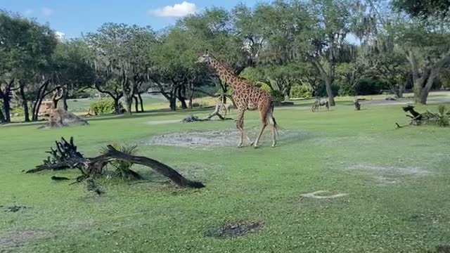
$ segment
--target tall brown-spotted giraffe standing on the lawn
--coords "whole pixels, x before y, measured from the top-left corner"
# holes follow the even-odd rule
[[[237,128],[240,131],[240,139],[238,148],[242,147],[243,138],[247,138],[250,141],[250,145],[254,148],[258,147],[259,138],[262,136],[262,132],[269,122],[272,132],[272,147],[276,145],[276,122],[274,118],[274,103],[271,99],[269,92],[252,85],[248,79],[236,76],[228,67],[219,62],[214,56],[206,51],[203,56],[198,58],[199,63],[207,63],[226,84],[233,88],[233,100],[236,103],[236,109],[239,112]],[[259,110],[259,116],[261,117],[261,131],[253,142],[247,133],[244,131],[244,113],[246,110]]]

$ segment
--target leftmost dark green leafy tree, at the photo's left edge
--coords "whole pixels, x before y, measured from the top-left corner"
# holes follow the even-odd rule
[[[49,77],[49,64],[51,53],[56,46],[56,36],[48,25],[40,25],[34,20],[0,12],[0,41],[1,75],[4,79],[18,81],[25,121],[30,121],[26,90],[37,92],[32,96],[34,108],[37,107],[32,111],[32,119],[37,120],[38,105],[43,99],[41,96],[46,94],[49,85],[44,81],[35,89],[37,84],[30,82],[38,77],[41,79],[42,75]],[[6,98],[4,106],[7,108],[8,98],[11,98],[11,86],[4,89],[8,92],[2,92],[2,98]],[[8,114],[9,112],[6,113],[7,119]]]

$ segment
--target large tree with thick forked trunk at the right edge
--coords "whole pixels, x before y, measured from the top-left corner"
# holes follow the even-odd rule
[[[369,51],[381,51],[392,55],[394,49],[401,51],[410,65],[404,79],[410,73],[413,79],[413,91],[416,103],[426,104],[428,93],[435,84],[439,72],[450,64],[450,33],[446,17],[428,17],[418,19],[404,13],[393,12],[392,5],[381,1],[375,5],[368,1],[371,20],[361,29]],[[387,6],[383,8],[381,6]],[[364,11],[364,10],[363,10]],[[361,12],[363,13],[363,12]],[[361,15],[364,17],[364,15]],[[446,22],[445,22],[446,21]],[[364,32],[364,33],[363,33]]]

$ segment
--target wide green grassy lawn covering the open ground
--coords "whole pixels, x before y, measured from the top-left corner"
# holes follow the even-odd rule
[[[277,148],[270,148],[269,130],[258,149],[148,145],[167,132],[235,127],[168,123],[189,112],[100,117],[52,130],[0,126],[0,252],[427,252],[450,245],[449,129],[394,129],[407,122],[399,105],[355,112],[340,101],[312,113],[304,101],[296,103],[275,109],[283,127]],[[258,117],[246,113],[253,137]],[[135,167],[147,181],[99,181],[105,194],[97,197],[84,184],[50,180],[78,171],[24,174],[61,136],[74,136],[87,157],[108,143],[136,143],[140,155],[206,188],[176,188]],[[317,190],[347,195],[302,197]],[[4,212],[13,205],[27,209]],[[239,238],[205,236],[236,221],[263,226]]]

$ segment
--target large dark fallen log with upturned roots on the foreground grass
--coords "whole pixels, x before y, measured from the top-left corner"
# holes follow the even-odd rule
[[[148,157],[129,155],[127,153],[116,150],[113,145],[107,146],[107,152],[98,157],[85,158],[77,151],[77,146],[73,143],[73,138],[70,142],[61,138],[61,141],[56,141],[56,150],[51,148],[52,157],[47,157],[43,164],[37,165],[34,169],[26,171],[26,173],[36,173],[43,170],[59,170],[59,169],[79,169],[82,175],[76,179],[77,182],[82,182],[87,179],[94,179],[103,174],[103,168],[112,161],[121,160],[131,162],[132,164],[141,164],[158,171],[160,174],[167,176],[177,186],[190,188],[203,188],[203,183],[191,181],[178,173],[178,171],[171,167],[158,162],[157,160]]]

